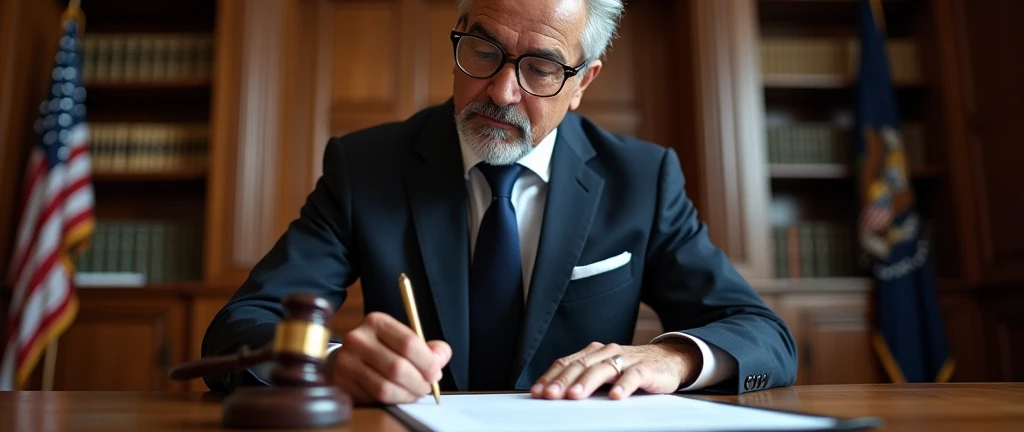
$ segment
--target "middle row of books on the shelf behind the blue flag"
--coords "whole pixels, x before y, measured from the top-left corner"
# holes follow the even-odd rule
[[[924,128],[906,123],[903,148],[910,166],[928,164]],[[853,158],[853,132],[829,123],[791,123],[767,130],[768,161],[773,164],[847,164]]]

